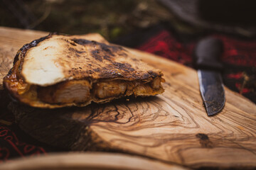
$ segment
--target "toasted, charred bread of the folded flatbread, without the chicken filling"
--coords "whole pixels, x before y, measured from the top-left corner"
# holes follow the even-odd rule
[[[4,86],[14,98],[30,106],[58,108],[86,106],[91,101],[102,103],[121,96],[91,99],[84,103],[54,104],[38,98],[38,87],[81,79],[90,81],[90,86],[100,81],[114,80],[147,84],[163,75],[160,70],[138,60],[123,47],[110,45],[100,37],[97,39],[85,40],[80,35],[50,34],[24,45],[16,54],[14,67],[4,77]],[[138,96],[151,96],[163,91],[161,86],[149,94]]]

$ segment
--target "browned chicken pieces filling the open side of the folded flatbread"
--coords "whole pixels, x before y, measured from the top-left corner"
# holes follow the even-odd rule
[[[38,87],[38,98],[46,103],[85,103],[117,96],[149,96],[161,88],[161,77],[143,84],[133,81],[101,81],[92,85],[87,80],[65,81],[48,87]]]

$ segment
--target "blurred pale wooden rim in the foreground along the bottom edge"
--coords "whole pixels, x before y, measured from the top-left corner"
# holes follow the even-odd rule
[[[131,164],[132,163],[132,164]],[[186,170],[181,166],[165,164],[152,159],[130,156],[127,154],[113,154],[104,152],[87,153],[61,153],[49,154],[48,156],[16,159],[6,164],[0,164],[2,170]]]

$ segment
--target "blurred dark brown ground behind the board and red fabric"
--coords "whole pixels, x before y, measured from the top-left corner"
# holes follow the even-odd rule
[[[168,23],[181,33],[216,30],[255,37],[253,0],[0,0],[0,25],[107,40]]]

